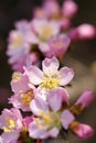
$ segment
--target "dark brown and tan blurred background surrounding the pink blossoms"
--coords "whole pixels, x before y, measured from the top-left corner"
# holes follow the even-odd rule
[[[72,20],[74,26],[82,23],[90,23],[96,26],[96,0],[75,0],[78,12]],[[7,40],[10,30],[14,29],[14,22],[32,19],[32,10],[41,6],[42,0],[0,0],[0,111],[8,108],[8,98],[12,95],[10,88],[11,66],[8,64]],[[76,48],[70,51],[64,58],[64,65],[75,70],[72,88],[67,87],[73,101],[83,90],[92,89],[96,97],[96,37],[76,44]],[[96,98],[88,109],[79,117],[79,121],[90,124],[96,131]],[[96,133],[93,138],[81,141],[70,134],[71,143],[95,143]]]

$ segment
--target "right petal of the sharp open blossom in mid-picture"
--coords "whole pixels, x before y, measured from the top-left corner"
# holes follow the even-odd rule
[[[60,69],[58,75],[60,75],[60,79],[61,79],[60,85],[66,86],[73,79],[74,72],[72,68],[63,67]]]

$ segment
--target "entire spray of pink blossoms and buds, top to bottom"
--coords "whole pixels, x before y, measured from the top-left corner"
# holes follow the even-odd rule
[[[12,108],[0,116],[0,143],[44,143],[68,130],[81,139],[93,135],[93,128],[76,117],[92,103],[94,94],[83,91],[72,106],[66,86],[75,72],[60,61],[72,42],[96,34],[90,24],[71,26],[77,9],[73,0],[62,7],[56,0],[44,0],[30,22],[17,22],[10,32],[7,54],[15,72],[10,84]]]

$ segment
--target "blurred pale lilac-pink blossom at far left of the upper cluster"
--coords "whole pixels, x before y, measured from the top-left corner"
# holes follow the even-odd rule
[[[17,30],[9,34],[7,55],[12,69],[22,72],[22,67],[26,65],[28,61],[31,61],[31,64],[39,62],[36,52],[31,53],[33,45],[38,43],[38,38],[31,30],[30,22],[17,22],[15,28]]]

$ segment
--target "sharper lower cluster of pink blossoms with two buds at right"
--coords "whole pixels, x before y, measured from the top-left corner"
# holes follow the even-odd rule
[[[30,65],[23,67],[23,73],[13,73],[13,95],[9,99],[13,108],[4,109],[0,116],[2,143],[43,142],[67,130],[82,139],[93,135],[89,125],[76,121],[76,117],[93,101],[93,92],[85,90],[71,106],[65,86],[73,79],[74,70],[58,68],[58,59],[52,57],[42,62],[42,70]],[[21,111],[26,112],[26,117]]]

